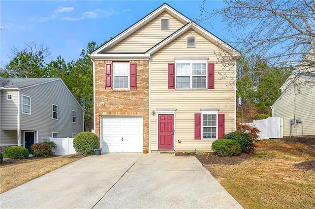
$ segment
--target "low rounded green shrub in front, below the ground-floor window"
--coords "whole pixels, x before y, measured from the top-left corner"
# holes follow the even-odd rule
[[[221,157],[232,157],[241,154],[241,146],[236,140],[219,139],[212,142],[211,148],[213,152]]]

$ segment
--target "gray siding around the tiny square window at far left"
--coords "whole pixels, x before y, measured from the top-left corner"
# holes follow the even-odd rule
[[[7,100],[6,95],[12,94],[13,99]],[[18,91],[1,91],[1,129],[18,129]]]

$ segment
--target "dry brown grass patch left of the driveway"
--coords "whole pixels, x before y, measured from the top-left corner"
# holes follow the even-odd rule
[[[82,157],[74,154],[60,157],[15,160],[13,163],[8,162],[8,164],[1,165],[0,194]]]

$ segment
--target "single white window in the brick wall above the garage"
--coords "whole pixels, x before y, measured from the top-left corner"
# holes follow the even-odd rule
[[[114,89],[129,88],[129,62],[113,63]]]

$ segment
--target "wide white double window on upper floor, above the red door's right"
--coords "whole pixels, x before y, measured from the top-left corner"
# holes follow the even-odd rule
[[[176,63],[176,88],[207,88],[207,63]]]

